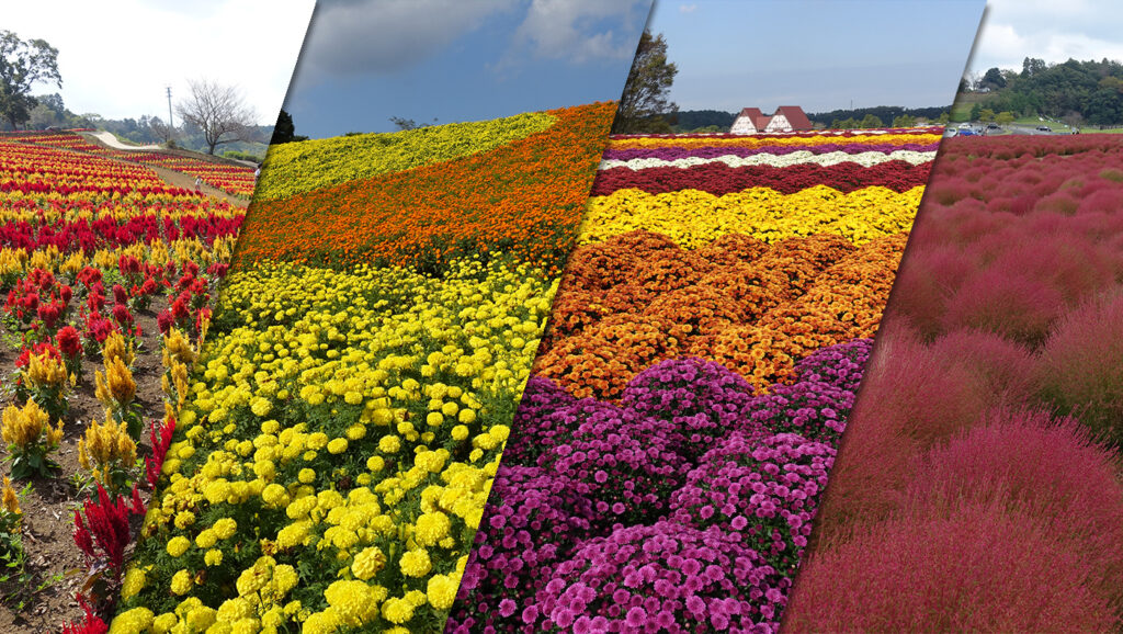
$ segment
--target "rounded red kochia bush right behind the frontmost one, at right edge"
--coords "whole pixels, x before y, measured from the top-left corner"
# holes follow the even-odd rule
[[[965,500],[1017,505],[1093,567],[1097,596],[1123,607],[1123,488],[1114,458],[1072,418],[999,408],[920,460],[905,504],[926,513]]]

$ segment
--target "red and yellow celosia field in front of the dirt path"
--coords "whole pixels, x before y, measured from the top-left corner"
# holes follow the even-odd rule
[[[8,474],[40,482],[9,532],[38,534],[19,550],[40,563],[0,591],[27,603],[19,585],[77,572],[93,614],[117,591],[128,514],[163,455],[143,442],[173,424],[164,399],[188,388],[244,209],[134,162],[25,143],[39,136],[0,138],[0,431]]]

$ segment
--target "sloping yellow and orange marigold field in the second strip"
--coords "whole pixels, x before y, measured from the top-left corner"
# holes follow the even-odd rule
[[[441,630],[613,114],[271,154],[115,631]]]

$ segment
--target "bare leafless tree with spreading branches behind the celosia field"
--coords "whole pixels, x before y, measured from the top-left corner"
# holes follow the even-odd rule
[[[179,102],[175,111],[202,130],[208,154],[214,154],[214,147],[223,143],[252,141],[257,114],[246,105],[237,87],[208,80],[189,81],[188,85],[191,96]]]

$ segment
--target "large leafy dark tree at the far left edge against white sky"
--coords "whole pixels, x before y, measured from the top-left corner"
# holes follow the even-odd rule
[[[31,85],[40,82],[63,87],[58,49],[44,39],[24,40],[10,30],[0,30],[0,117],[12,129],[30,118],[36,105]]]

